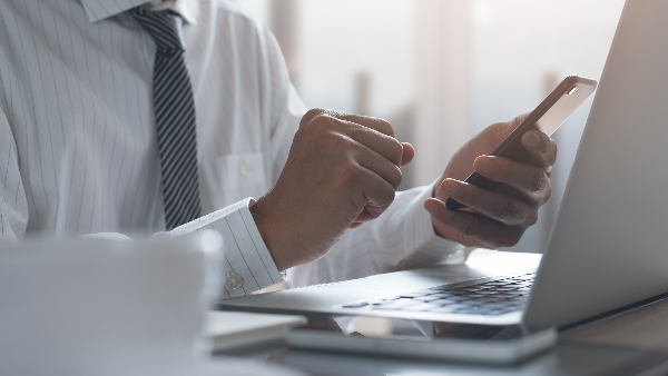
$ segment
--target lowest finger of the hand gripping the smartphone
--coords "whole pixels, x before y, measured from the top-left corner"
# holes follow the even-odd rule
[[[434,220],[489,248],[512,247],[520,241],[523,230],[505,226],[494,219],[459,210],[448,210],[443,201],[430,198],[424,208]]]

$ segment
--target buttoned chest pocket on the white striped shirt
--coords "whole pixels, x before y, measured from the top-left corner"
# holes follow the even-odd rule
[[[204,212],[266,194],[269,187],[264,165],[262,152],[228,155],[202,164],[203,192],[208,192],[203,195]]]

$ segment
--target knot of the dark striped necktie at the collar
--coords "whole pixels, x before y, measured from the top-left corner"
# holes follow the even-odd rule
[[[178,14],[169,10],[154,12],[144,7],[132,8],[128,13],[153,37],[158,49],[184,51],[183,20]]]

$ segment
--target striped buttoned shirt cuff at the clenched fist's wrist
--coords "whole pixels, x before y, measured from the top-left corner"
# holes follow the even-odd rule
[[[246,198],[167,232],[170,238],[198,236],[197,232],[204,229],[223,235],[223,266],[216,270],[223,284],[222,299],[244,296],[283,281],[250,215],[252,199]]]

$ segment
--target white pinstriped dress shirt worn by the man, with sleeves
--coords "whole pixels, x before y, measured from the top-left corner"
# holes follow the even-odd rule
[[[163,231],[153,109],[156,46],[124,11],[146,0],[0,0],[0,239]],[[278,179],[306,107],[267,28],[223,0],[153,1],[184,18],[204,217],[160,236],[224,235],[223,298],[282,280],[249,197]],[[423,201],[399,194],[294,286],[462,261]],[[190,234],[190,235],[188,235]]]

